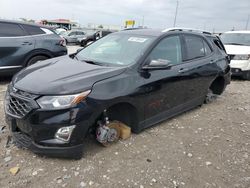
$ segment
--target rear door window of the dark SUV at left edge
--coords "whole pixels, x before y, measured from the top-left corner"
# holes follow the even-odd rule
[[[18,24],[0,23],[0,37],[17,37],[25,35],[25,31]]]

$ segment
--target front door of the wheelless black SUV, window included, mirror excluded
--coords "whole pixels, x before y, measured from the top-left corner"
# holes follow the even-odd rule
[[[183,76],[183,47],[179,35],[162,39],[151,51],[147,62],[167,60],[172,66],[167,70],[148,70],[143,90],[145,121],[144,127],[155,124],[181,111],[186,100],[188,79]]]

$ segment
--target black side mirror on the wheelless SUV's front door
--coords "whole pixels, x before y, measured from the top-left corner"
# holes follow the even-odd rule
[[[172,67],[171,61],[158,59],[152,60],[148,65],[142,67],[143,70],[162,70],[162,69],[170,69]]]

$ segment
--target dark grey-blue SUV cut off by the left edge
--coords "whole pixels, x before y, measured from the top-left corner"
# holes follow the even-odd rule
[[[0,20],[0,75],[66,55],[65,44],[63,38],[44,26]]]

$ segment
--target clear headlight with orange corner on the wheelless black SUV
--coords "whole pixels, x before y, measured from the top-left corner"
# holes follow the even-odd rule
[[[90,90],[75,95],[43,96],[37,103],[43,109],[65,109],[79,104],[89,93]]]

